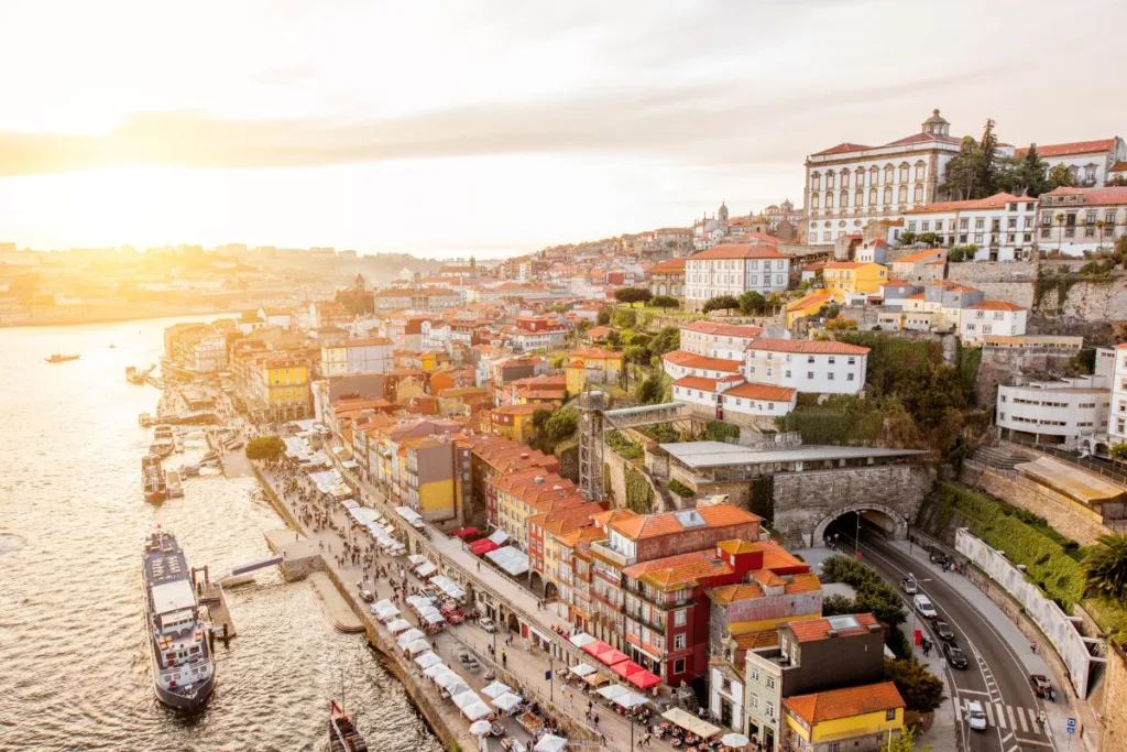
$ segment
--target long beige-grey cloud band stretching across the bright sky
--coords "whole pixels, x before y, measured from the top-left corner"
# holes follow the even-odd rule
[[[304,72],[282,73],[286,77]],[[877,83],[810,97],[731,96],[727,86],[624,88],[476,103],[397,117],[230,120],[201,112],[132,115],[96,136],[0,133],[0,175],[124,165],[276,168],[487,154],[603,153],[666,161],[740,163],[800,159],[823,148],[825,118],[966,77]]]

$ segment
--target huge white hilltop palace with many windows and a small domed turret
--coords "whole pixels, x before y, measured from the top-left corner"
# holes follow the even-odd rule
[[[872,220],[891,220],[939,197],[947,162],[961,139],[939,110],[920,133],[884,145],[840,143],[806,158],[806,222],[809,245],[831,245]],[[1012,153],[1003,148],[1001,153]]]

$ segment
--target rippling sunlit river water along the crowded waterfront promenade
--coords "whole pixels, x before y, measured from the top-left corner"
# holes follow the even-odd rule
[[[160,523],[190,566],[224,572],[268,556],[263,533],[285,527],[254,478],[188,478],[183,498],[142,498],[152,432],[137,415],[159,392],[124,373],[157,362],[172,321],[0,329],[0,750],[325,750],[343,670],[370,749],[437,752],[363,637],[335,631],[311,585],[273,568],[229,592],[239,635],[216,642],[207,706],[157,702],[144,536]],[[52,353],[82,357],[44,363]]]

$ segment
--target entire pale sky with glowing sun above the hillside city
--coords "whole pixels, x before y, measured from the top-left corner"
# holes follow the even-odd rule
[[[1122,0],[5,0],[0,241],[512,256],[987,117],[1127,136]]]

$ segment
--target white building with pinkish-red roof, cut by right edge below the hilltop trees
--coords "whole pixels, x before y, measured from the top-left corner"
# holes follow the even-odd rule
[[[1110,250],[1127,235],[1127,187],[1056,188],[1039,200],[1041,250],[1068,256],[1103,247]]]

